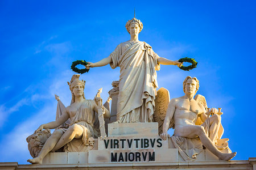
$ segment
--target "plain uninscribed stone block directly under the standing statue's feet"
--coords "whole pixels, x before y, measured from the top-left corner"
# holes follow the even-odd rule
[[[158,123],[108,124],[108,137],[141,137],[158,135]]]

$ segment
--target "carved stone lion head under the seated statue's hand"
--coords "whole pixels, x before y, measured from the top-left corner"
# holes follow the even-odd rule
[[[38,156],[41,151],[40,145],[44,145],[46,140],[51,135],[51,130],[44,129],[43,131],[38,131],[27,137],[28,150],[30,151],[30,155],[35,158]]]

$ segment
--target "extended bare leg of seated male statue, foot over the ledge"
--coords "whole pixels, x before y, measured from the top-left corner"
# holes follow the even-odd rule
[[[233,152],[231,154],[220,152],[205,133],[203,126],[187,125],[182,128],[175,128],[175,131],[175,135],[180,137],[195,138],[198,136],[203,145],[221,160],[230,160],[237,154],[237,152]]]

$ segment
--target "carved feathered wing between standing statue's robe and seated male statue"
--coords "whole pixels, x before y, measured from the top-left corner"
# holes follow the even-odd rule
[[[166,118],[166,111],[170,102],[170,94],[166,88],[161,87],[155,96],[154,121],[158,122],[158,133],[162,134],[163,122]],[[173,122],[171,121],[173,126]],[[172,128],[172,127],[171,127]]]

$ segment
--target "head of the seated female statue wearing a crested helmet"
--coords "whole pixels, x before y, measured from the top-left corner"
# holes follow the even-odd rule
[[[76,97],[79,97],[79,96],[84,97],[85,80],[79,80],[79,77],[80,77],[79,74],[74,74],[71,78],[71,81],[68,82],[69,89],[72,93],[71,104],[75,102],[75,96]],[[84,97],[84,99],[85,99],[85,97]]]

